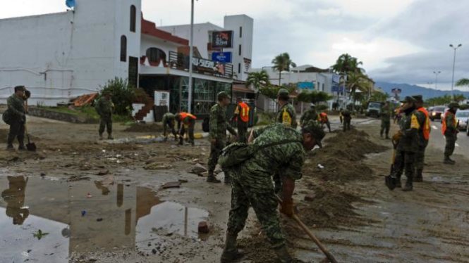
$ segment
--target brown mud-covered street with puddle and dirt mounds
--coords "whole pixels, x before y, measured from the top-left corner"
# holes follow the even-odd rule
[[[390,141],[378,120],[355,128],[308,153],[294,195],[300,219],[339,262],[469,262],[466,157],[444,166],[427,148],[424,182],[389,191]],[[97,141],[97,125],[62,122],[28,129],[36,153],[0,150],[0,262],[219,262],[231,190],[207,184],[197,166],[207,139],[176,146],[147,136],[158,130],[116,126],[115,141]],[[282,215],[282,225],[297,257],[324,259],[295,222]],[[252,210],[240,234],[242,262],[274,262]]]

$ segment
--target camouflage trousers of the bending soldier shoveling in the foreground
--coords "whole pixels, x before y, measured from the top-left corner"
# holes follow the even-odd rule
[[[251,205],[272,248],[281,247],[285,244],[285,237],[280,227],[278,201],[272,184],[262,189],[252,188],[252,182],[244,180],[243,174],[239,174],[239,171],[246,172],[246,169],[242,167],[236,169],[236,172],[230,171],[230,173],[238,174],[233,174],[231,177],[231,210],[228,219],[228,233],[236,235],[243,230]]]

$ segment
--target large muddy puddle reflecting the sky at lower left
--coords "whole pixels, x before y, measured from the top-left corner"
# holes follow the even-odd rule
[[[0,176],[0,192],[0,262],[68,262],[72,252],[198,240],[197,225],[209,215],[159,200],[150,188],[109,180]],[[40,240],[33,236],[39,229],[47,233]]]

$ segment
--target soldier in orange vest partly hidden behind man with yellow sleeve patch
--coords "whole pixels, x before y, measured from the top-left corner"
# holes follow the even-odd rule
[[[422,172],[425,160],[425,149],[428,145],[428,140],[430,139],[430,131],[432,131],[432,127],[430,127],[430,119],[428,117],[428,112],[423,108],[423,99],[422,95],[415,95],[415,108],[417,111],[415,114],[418,117],[418,122],[420,124],[420,129],[418,131],[419,134],[419,148],[418,152],[415,154],[415,177],[414,182],[421,182],[423,181]]]

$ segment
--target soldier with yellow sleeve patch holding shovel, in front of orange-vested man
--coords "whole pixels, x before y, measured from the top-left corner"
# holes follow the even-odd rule
[[[399,131],[393,136],[393,142],[397,143],[397,148],[392,177],[397,179],[396,186],[401,187],[401,174],[405,170],[407,181],[402,191],[412,191],[415,153],[419,149],[420,123],[415,110],[415,98],[406,96],[401,102],[403,103],[401,112],[404,115],[399,122]]]

